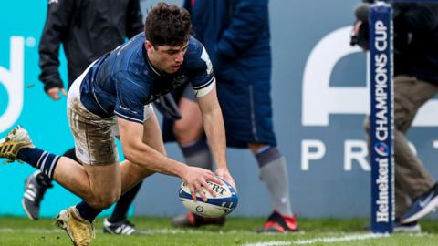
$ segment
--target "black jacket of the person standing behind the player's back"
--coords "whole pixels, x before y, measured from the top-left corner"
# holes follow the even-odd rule
[[[47,19],[39,43],[39,79],[47,91],[64,87],[59,76],[59,46],[68,60],[68,87],[89,64],[140,33],[139,0],[48,1]]]

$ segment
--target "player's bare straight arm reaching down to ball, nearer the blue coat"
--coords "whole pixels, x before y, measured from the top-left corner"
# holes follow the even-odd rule
[[[216,163],[216,174],[235,186],[226,164],[226,140],[224,118],[216,96],[216,87],[207,95],[198,97],[199,107],[203,113],[203,129],[207,135]]]

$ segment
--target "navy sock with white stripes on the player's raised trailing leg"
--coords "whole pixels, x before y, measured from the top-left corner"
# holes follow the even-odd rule
[[[53,179],[53,174],[57,168],[57,161],[59,160],[59,156],[38,148],[20,149],[17,158],[25,161],[36,169],[40,169],[49,179]]]

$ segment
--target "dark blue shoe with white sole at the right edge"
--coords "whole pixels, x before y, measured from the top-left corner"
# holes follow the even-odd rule
[[[412,202],[409,210],[401,216],[401,223],[409,223],[422,219],[438,207],[438,183]]]

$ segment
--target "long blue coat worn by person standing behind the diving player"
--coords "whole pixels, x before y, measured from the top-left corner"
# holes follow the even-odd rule
[[[193,5],[194,2],[194,5]],[[227,146],[276,145],[267,0],[186,0],[194,36],[212,60]],[[163,136],[169,125],[164,122]]]

